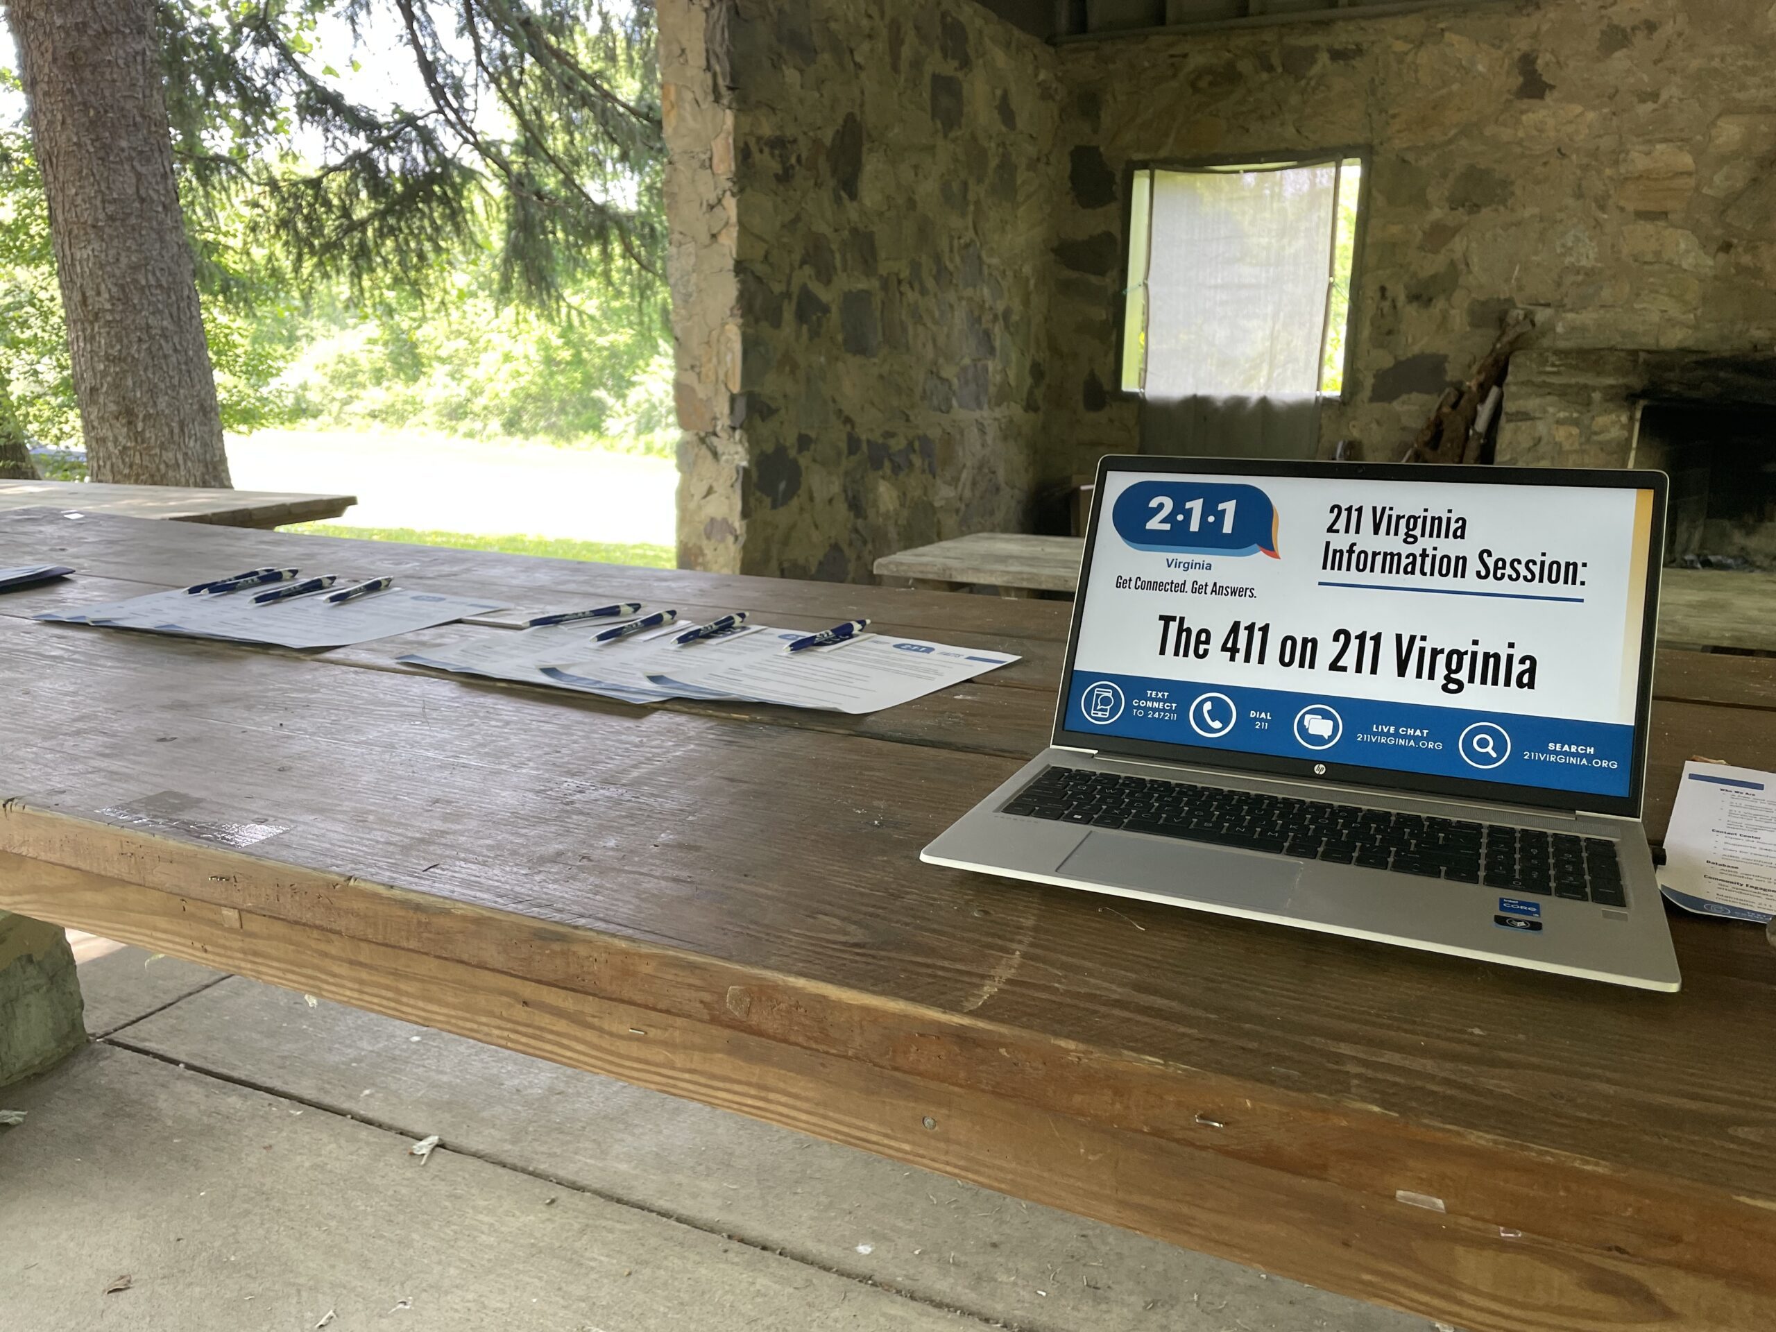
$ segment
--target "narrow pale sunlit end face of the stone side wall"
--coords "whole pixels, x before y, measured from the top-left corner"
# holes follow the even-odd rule
[[[732,0],[659,0],[661,119],[666,131],[666,277],[678,407],[678,565],[737,574],[746,437],[741,432],[739,222]]]

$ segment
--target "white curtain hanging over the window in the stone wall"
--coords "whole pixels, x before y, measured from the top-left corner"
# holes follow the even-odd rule
[[[1318,391],[1336,201],[1336,162],[1153,174],[1149,396]]]

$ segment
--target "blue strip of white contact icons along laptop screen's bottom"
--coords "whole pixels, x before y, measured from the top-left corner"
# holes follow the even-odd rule
[[[1614,796],[1634,726],[1073,673],[1067,730]]]

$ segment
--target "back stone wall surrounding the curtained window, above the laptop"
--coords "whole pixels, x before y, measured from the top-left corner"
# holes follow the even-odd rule
[[[1508,460],[1625,462],[1629,389],[1598,398],[1574,353],[1776,343],[1771,0],[1524,0],[1064,44],[1058,62],[1071,176],[1044,478],[1137,446],[1135,403],[1110,389],[1142,162],[1371,149],[1352,377],[1325,449],[1396,456],[1513,305],[1540,332],[1506,401]],[[1609,405],[1595,421],[1593,401]]]

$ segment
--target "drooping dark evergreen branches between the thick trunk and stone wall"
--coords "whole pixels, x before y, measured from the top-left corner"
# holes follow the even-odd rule
[[[398,34],[377,59],[410,62],[426,103],[346,96],[316,48],[325,14]],[[250,197],[256,240],[298,277],[424,289],[485,233],[503,297],[657,291],[652,0],[162,0],[160,28],[194,202]]]

